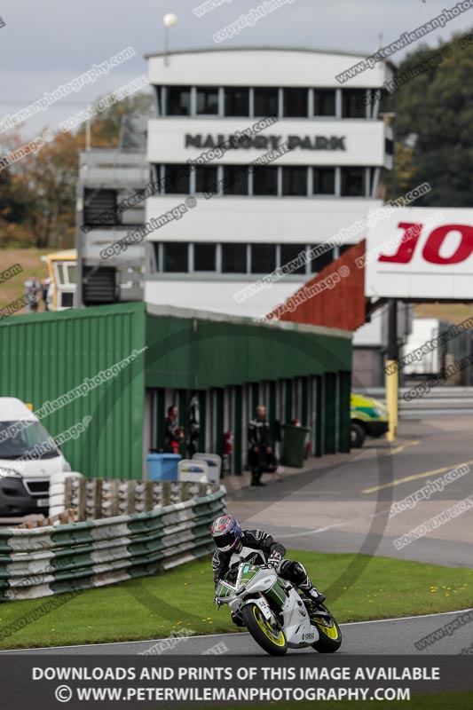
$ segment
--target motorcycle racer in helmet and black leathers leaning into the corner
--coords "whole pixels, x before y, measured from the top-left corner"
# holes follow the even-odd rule
[[[241,530],[240,523],[231,515],[217,517],[210,527],[210,533],[217,545],[212,557],[216,587],[217,582],[234,565],[239,564],[242,557],[245,562],[274,567],[280,577],[293,582],[316,604],[325,600],[326,597],[311,583],[303,564],[283,559],[286,548],[273,540],[272,535],[263,530]],[[237,622],[237,619],[233,620]]]

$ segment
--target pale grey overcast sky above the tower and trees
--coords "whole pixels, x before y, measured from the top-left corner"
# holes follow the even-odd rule
[[[132,46],[136,56],[79,92],[61,99],[32,117],[24,130],[35,136],[91,101],[146,74],[145,52],[162,51],[162,17],[177,15],[171,49],[271,44],[313,49],[371,53],[452,7],[456,0],[287,0],[278,10],[245,28],[239,36],[216,45],[217,30],[238,20],[259,0],[226,0],[196,17],[193,8],[202,0],[2,0],[0,17],[0,121],[74,79],[92,64]],[[0,22],[0,25],[3,23]],[[434,47],[454,32],[473,26],[473,10],[449,22],[428,37]],[[411,45],[411,48],[414,45]],[[399,52],[391,59],[401,59]]]

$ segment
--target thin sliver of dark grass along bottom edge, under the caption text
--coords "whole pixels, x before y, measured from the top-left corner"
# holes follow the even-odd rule
[[[369,706],[369,710],[471,710],[473,707],[473,693],[430,693],[429,695],[413,695],[410,700],[373,700],[372,703],[367,703],[364,700],[343,700],[343,705],[339,700],[324,700],[320,701],[320,706],[324,710],[341,710],[341,708],[350,707],[350,710],[359,710],[359,708]],[[251,710],[268,710],[268,708],[277,707],[278,710],[313,710],[317,705],[314,702],[299,702],[299,703],[266,703],[261,705],[248,705]],[[213,710],[241,710],[240,705],[225,705],[212,706]]]

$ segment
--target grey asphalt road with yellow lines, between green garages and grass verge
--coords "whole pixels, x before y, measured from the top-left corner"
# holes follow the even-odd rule
[[[354,552],[452,567],[473,566],[473,507],[397,548],[395,540],[467,498],[473,503],[473,447],[467,417],[400,422],[398,440],[367,439],[351,454],[311,460],[304,472],[264,488],[232,491],[228,510],[246,528],[261,527],[287,548]],[[312,463],[313,462],[313,463]],[[445,477],[467,472],[390,517],[391,506]],[[464,469],[465,470],[465,469]],[[459,605],[469,606],[472,599]]]

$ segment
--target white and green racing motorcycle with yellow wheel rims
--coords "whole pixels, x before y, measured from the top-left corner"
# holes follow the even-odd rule
[[[228,604],[233,619],[246,626],[256,643],[272,656],[288,648],[311,646],[319,653],[340,648],[342,632],[324,604],[315,604],[291,582],[266,565],[240,559],[219,580],[215,602],[218,610]]]

